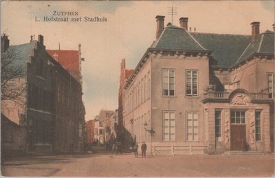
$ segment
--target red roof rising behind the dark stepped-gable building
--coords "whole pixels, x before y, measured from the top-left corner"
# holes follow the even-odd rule
[[[58,63],[60,63],[64,67],[64,69],[66,69],[67,71],[80,72],[78,51],[47,49],[47,52],[55,60],[57,60]]]

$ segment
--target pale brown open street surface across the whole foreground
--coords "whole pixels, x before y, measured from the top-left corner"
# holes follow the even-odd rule
[[[2,163],[3,176],[16,177],[271,177],[270,155],[133,154],[56,155]]]

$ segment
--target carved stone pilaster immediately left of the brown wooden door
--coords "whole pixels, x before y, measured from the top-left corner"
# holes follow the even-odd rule
[[[224,146],[230,151],[230,109],[224,109]]]

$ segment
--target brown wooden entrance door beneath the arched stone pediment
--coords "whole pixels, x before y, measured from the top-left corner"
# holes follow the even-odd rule
[[[243,151],[245,148],[245,125],[231,126],[231,150]]]

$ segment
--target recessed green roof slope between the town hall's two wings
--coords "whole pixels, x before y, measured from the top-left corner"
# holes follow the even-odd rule
[[[239,34],[210,34],[190,32],[190,34],[208,50],[217,66],[230,67],[239,59],[250,43],[250,35]]]

